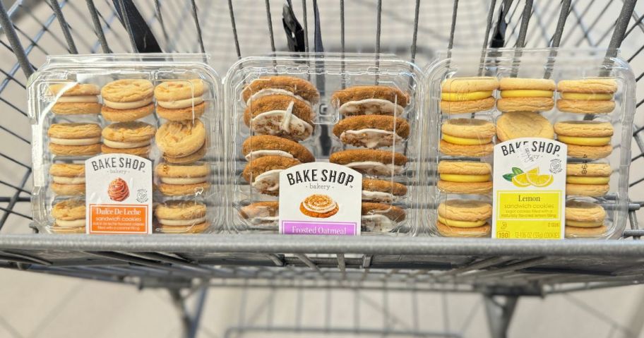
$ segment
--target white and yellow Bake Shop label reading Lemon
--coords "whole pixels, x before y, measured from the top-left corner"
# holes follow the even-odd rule
[[[567,152],[545,138],[494,146],[493,238],[564,238]]]

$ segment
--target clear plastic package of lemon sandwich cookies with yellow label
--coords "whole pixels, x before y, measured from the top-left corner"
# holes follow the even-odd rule
[[[453,50],[426,68],[428,111],[437,119],[429,145],[438,145],[429,150],[431,234],[621,236],[633,73],[619,58],[607,63],[604,52],[552,52]]]

